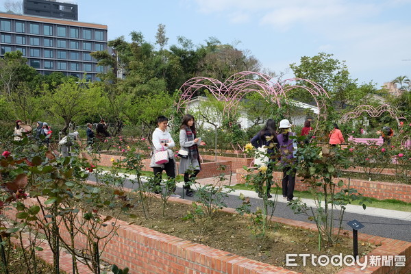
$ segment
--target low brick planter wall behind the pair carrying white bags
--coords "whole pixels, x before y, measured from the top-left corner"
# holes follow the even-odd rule
[[[83,158],[86,158],[88,161],[91,160],[90,155],[88,155],[88,153],[83,152],[82,156]],[[99,165],[112,166],[112,162],[111,162],[112,158],[114,159],[114,161],[117,161],[117,160],[122,160],[124,157],[119,156],[119,155],[101,154]],[[150,161],[151,161],[150,159],[142,160],[142,163],[144,164],[144,166],[142,167],[142,171],[153,171],[153,169],[150,167]],[[176,164],[177,164],[177,171],[178,171],[179,162],[177,162]],[[221,165],[225,165],[225,171],[219,170],[219,167]],[[199,173],[199,175],[197,175],[197,178],[202,179],[202,178],[216,177],[220,175],[221,173],[229,174],[231,173],[231,171],[232,171],[231,161],[219,160],[218,162],[204,162],[201,164],[201,172]]]

